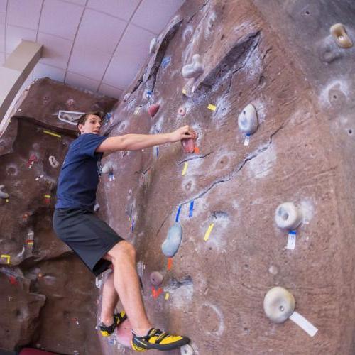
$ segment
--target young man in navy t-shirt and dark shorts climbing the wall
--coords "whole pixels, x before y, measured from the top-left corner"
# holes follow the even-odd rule
[[[77,123],[80,136],[70,144],[58,178],[53,229],[95,276],[107,268],[113,270],[102,290],[99,329],[104,337],[111,335],[128,316],[134,350],[175,349],[190,339],[152,327],[141,297],[136,250],[99,219],[93,209],[103,153],[138,151],[178,142],[184,138],[195,138],[195,132],[189,126],[183,126],[171,133],[104,137],[99,134],[101,121],[101,112],[90,112],[82,115]],[[125,312],[114,314],[119,298]]]

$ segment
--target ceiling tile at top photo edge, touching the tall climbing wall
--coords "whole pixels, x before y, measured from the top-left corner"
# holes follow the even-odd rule
[[[131,22],[147,28],[154,33],[160,33],[173,18],[184,0],[143,0],[134,14]]]

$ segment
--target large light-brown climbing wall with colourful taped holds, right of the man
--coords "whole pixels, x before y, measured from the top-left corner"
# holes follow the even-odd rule
[[[104,126],[198,134],[193,153],[109,155],[99,190],[151,321],[192,339],[182,354],[354,353],[354,14],[186,1]],[[119,340],[104,352],[129,354]]]

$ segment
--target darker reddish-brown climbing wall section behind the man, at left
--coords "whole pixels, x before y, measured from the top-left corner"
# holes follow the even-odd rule
[[[52,214],[55,162],[62,165],[75,138],[58,110],[109,110],[114,102],[39,80],[0,138],[0,349],[100,354],[94,277],[56,238]]]

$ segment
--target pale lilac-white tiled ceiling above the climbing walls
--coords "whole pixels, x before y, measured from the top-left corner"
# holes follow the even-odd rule
[[[32,40],[43,44],[43,58],[26,84],[50,77],[119,98],[184,1],[0,0],[0,65]]]

